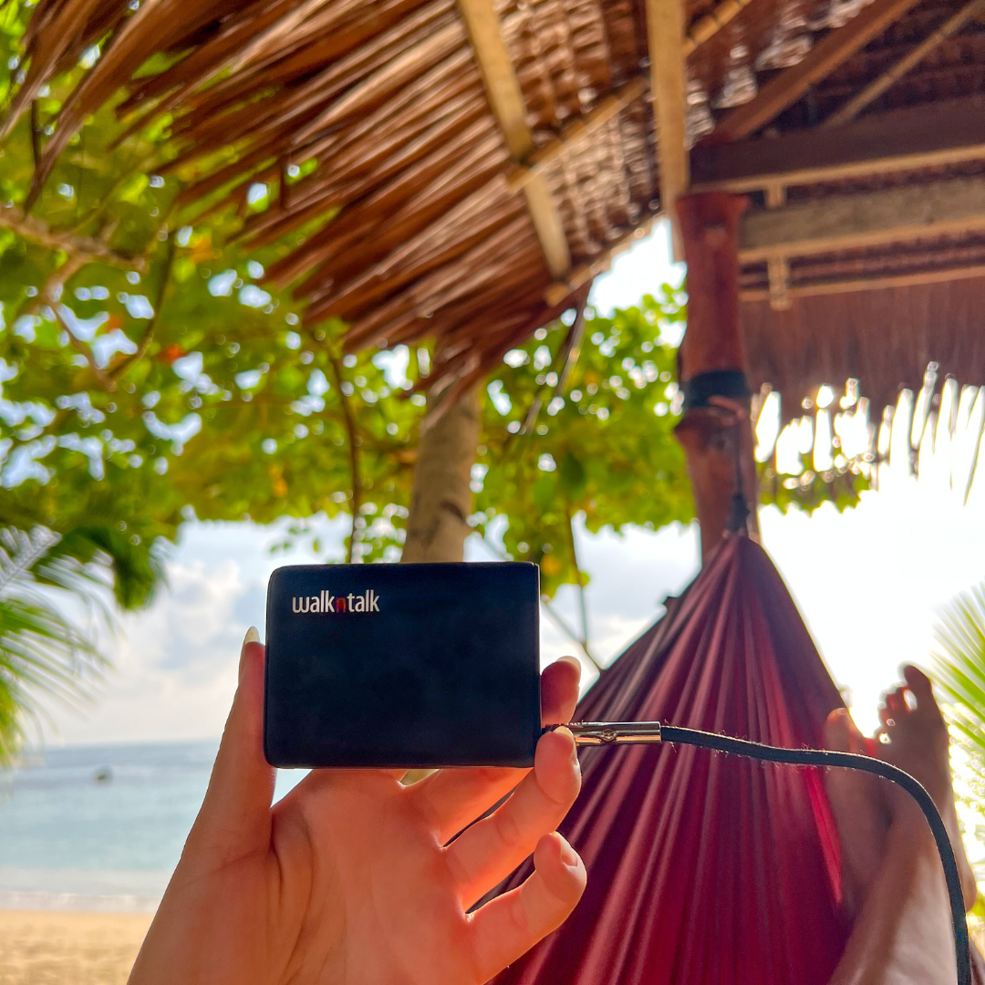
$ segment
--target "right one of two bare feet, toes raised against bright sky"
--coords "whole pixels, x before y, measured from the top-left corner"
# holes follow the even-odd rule
[[[970,909],[978,895],[974,873],[964,854],[964,844],[957,825],[954,791],[951,777],[950,737],[941,709],[934,699],[930,679],[916,667],[903,668],[905,685],[886,693],[886,703],[879,716],[883,727],[877,732],[876,755],[905,769],[914,776],[934,799],[944,819],[951,845],[957,859],[964,891],[964,905]],[[887,784],[886,787],[889,787]],[[886,789],[886,803],[893,823],[912,823],[916,805],[903,790],[894,784]],[[919,821],[923,829],[924,821]]]

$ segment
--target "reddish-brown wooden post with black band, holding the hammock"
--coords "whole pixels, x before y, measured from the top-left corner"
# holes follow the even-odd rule
[[[739,218],[747,204],[719,192],[678,201],[688,261],[688,329],[679,353],[685,416],[676,434],[688,459],[702,559],[727,530],[743,528],[756,539],[759,532],[739,324]]]

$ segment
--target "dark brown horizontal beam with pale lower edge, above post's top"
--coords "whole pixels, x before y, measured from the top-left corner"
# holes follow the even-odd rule
[[[745,193],[985,161],[985,99],[893,110],[691,152],[691,190]]]

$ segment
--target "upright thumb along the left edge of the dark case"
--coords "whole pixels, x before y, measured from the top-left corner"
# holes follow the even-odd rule
[[[239,655],[239,685],[232,699],[219,755],[188,849],[201,849],[217,865],[265,851],[270,844],[270,803],[275,771],[263,755],[264,647],[250,626]]]

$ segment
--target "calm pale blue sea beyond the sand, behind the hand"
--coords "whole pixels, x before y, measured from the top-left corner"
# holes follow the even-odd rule
[[[218,749],[78,746],[0,771],[0,908],[153,911]],[[302,775],[282,771],[276,796]]]

